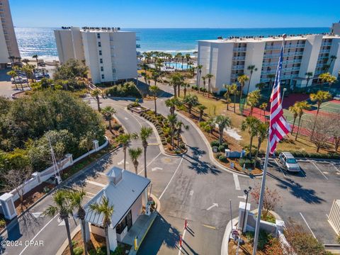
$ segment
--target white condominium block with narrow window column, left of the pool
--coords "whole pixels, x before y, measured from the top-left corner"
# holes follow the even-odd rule
[[[85,61],[94,84],[137,77],[136,33],[119,28],[55,30],[60,63]]]

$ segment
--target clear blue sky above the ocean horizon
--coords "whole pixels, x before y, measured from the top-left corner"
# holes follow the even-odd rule
[[[18,27],[301,28],[340,20],[339,0],[9,1]]]

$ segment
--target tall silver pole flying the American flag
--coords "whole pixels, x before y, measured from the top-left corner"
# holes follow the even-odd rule
[[[282,42],[282,45],[283,45],[283,52],[282,52],[282,54],[283,55],[285,53],[285,49],[284,49],[285,37],[286,37],[286,35],[283,35],[283,42]],[[270,152],[270,148],[271,148],[271,144],[270,144],[270,141],[271,141],[271,139],[270,139],[271,132],[270,132],[270,130],[271,130],[271,128],[268,128],[266,158],[264,159],[262,182],[261,182],[261,193],[260,193],[260,198],[259,198],[259,209],[258,209],[257,218],[256,218],[253,255],[256,255],[257,243],[259,242],[259,230],[260,230],[260,225],[261,225],[261,212],[262,212],[262,207],[263,207],[263,195],[264,195],[264,188],[266,187],[266,174],[267,174],[267,168],[268,168],[269,152]]]

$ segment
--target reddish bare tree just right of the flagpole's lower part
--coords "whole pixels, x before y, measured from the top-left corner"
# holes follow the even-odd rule
[[[254,202],[259,204],[259,198],[261,193],[261,186],[257,185],[255,188],[251,191],[251,197],[253,198]],[[275,208],[280,203],[281,197],[278,194],[278,191],[276,189],[271,190],[268,187],[264,190],[263,195],[263,210],[262,210],[262,217],[264,220],[268,217],[268,213],[270,210],[275,210]]]

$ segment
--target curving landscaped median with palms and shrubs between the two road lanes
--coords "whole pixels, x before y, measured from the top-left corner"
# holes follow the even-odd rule
[[[166,154],[179,155],[187,152],[187,147],[183,141],[181,132],[184,128],[188,127],[178,121],[176,115],[168,115],[168,118],[165,118],[159,113],[154,113],[154,111],[140,106],[137,101],[130,103],[128,110],[139,114],[142,118],[145,118],[154,125],[161,138],[162,146]]]

